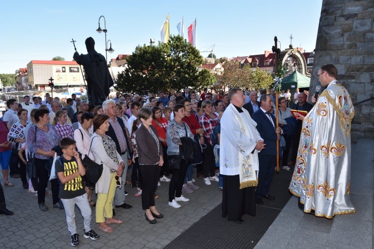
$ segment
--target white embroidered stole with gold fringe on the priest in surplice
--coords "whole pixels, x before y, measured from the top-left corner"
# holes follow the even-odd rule
[[[249,135],[249,130],[247,124],[244,122],[243,118],[239,114],[239,112],[235,109],[233,105],[229,105],[227,108],[230,108],[232,113],[234,114],[234,117],[236,121],[240,125],[240,130],[248,136],[248,138],[251,138]],[[248,120],[252,121],[252,119],[249,116],[248,112],[244,112],[244,115],[248,117]],[[253,125],[254,129],[256,129],[256,125],[254,123],[248,124]],[[255,139],[257,140],[257,139]],[[255,187],[258,184],[258,178],[256,170],[258,170],[258,160],[254,159],[254,156],[257,154],[257,151],[255,150],[252,153],[249,153],[249,155],[244,156],[241,152],[239,152],[239,165],[240,165],[240,172],[239,172],[239,183],[240,188],[247,188],[247,187]]]

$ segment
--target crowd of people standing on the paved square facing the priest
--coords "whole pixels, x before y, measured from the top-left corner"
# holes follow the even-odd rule
[[[329,76],[329,70],[323,72]],[[113,232],[109,225],[124,222],[114,218],[115,208],[132,208],[125,202],[126,184],[137,188],[135,197],[141,197],[146,221],[156,224],[164,217],[155,201],[160,184],[169,183],[169,206],[180,208],[189,201],[183,193],[199,189],[197,179],[206,185],[217,182],[218,190],[223,190],[222,217],[242,224],[243,214],[255,215],[255,204],[275,199],[269,188],[276,141],[282,144],[283,169],[293,170],[300,162],[304,117],[294,118],[290,107],[310,112],[313,106],[305,93],[297,92],[297,101],[290,95],[287,91],[278,99],[279,127],[274,89],[233,88],[212,94],[205,88],[198,94],[186,88],[169,95],[160,91],[158,97],[118,92],[96,107],[74,95],[64,105],[47,94],[45,104],[38,97],[30,103],[31,98],[24,96],[21,105],[9,99],[0,122],[3,182],[11,187],[8,176],[20,178],[23,188],[37,196],[41,211],[48,211],[45,195],[51,194],[53,208],[65,210],[73,246],[79,244],[74,205],[84,218],[84,237],[96,240],[91,209],[95,208],[98,228]],[[97,182],[84,177],[86,157],[103,167]],[[35,172],[29,172],[29,163]],[[11,215],[0,187],[0,212]],[[300,195],[298,189],[292,191]],[[306,209],[313,208],[308,203]]]

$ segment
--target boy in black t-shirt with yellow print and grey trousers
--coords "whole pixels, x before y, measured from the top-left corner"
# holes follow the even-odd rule
[[[92,212],[87,194],[83,188],[82,176],[86,174],[75,140],[65,137],[60,141],[62,156],[55,162],[55,170],[60,179],[60,194],[66,214],[66,222],[71,234],[71,245],[79,245],[79,235],[75,226],[75,204],[79,207],[84,220],[84,238],[97,240],[100,236],[91,229]],[[63,164],[63,165],[61,165]]]

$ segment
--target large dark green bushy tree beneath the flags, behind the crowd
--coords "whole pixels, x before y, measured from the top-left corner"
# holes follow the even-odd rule
[[[198,67],[202,64],[199,51],[179,35],[158,46],[138,46],[126,60],[128,68],[117,78],[117,89],[122,92],[146,94],[198,88],[211,81],[199,75]]]

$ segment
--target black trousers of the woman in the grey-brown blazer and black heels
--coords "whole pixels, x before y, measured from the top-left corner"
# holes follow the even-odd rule
[[[139,165],[142,178],[142,208],[143,210],[155,206],[155,192],[160,180],[159,165]]]

